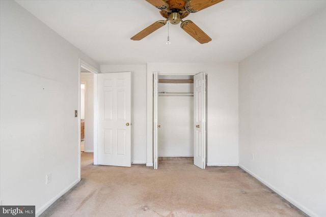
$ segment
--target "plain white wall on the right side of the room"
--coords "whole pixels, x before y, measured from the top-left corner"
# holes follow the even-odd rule
[[[239,64],[239,165],[311,216],[326,216],[325,39],[324,9]]]

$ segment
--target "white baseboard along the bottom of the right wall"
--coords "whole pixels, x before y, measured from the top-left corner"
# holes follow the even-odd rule
[[[304,205],[302,205],[301,203],[298,203],[297,201],[295,201],[293,198],[287,196],[286,194],[284,194],[282,191],[280,191],[279,189],[275,188],[273,184],[270,184],[268,181],[262,179],[261,177],[259,177],[258,175],[256,175],[255,173],[253,173],[252,171],[250,171],[249,169],[247,169],[246,167],[244,167],[243,165],[239,164],[239,167],[241,169],[243,169],[244,171],[248,172],[250,175],[254,176],[256,179],[258,179],[260,182],[262,182],[263,184],[265,184],[268,188],[270,188],[271,190],[273,190],[275,193],[277,193],[278,195],[280,195],[281,197],[283,197],[285,200],[287,200],[288,202],[290,202],[291,204],[293,204],[294,206],[296,206],[298,209],[300,209],[301,211],[305,212],[307,215],[309,216],[316,216],[318,217],[319,215],[317,215],[316,213],[314,213],[313,211],[309,210],[307,207],[305,207]]]

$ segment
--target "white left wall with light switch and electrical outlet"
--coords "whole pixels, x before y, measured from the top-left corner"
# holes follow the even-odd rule
[[[0,4],[0,199],[39,215],[79,181],[79,58],[98,65],[14,1]]]

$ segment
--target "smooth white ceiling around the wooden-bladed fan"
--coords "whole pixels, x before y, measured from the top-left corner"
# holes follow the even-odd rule
[[[204,1],[204,0],[203,0]],[[142,0],[17,0],[22,7],[99,64],[238,62],[326,7],[314,0],[226,0],[184,20],[212,38],[199,44],[170,24],[141,41],[130,38],[157,20],[159,10]]]

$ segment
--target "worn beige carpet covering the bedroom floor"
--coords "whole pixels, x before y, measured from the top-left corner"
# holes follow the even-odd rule
[[[159,169],[94,166],[82,153],[82,181],[41,216],[306,216],[239,167],[201,170],[192,158]]]

